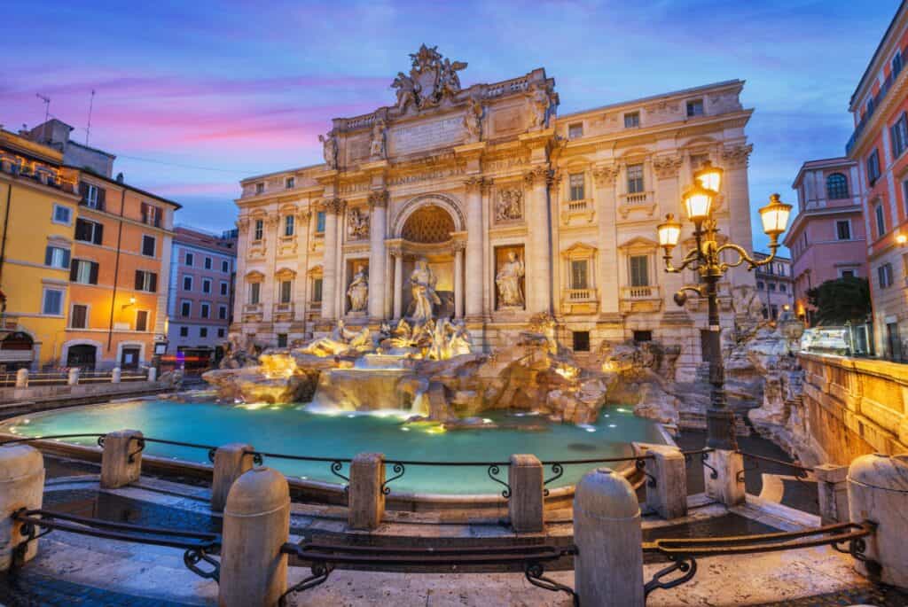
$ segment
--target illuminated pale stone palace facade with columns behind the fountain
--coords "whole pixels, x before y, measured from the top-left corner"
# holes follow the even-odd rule
[[[722,234],[751,249],[744,83],[558,116],[543,69],[461,88],[466,64],[426,46],[410,57],[397,103],[334,119],[325,162],[242,181],[232,335],[288,346],[339,319],[378,329],[412,316],[429,284],[434,316],[484,348],[555,318],[578,352],[676,345],[677,378],[693,377],[706,302],[674,303],[697,276],[663,271],[656,224],[684,217],[682,191],[711,161]],[[731,289],[754,279],[725,279],[730,322]]]

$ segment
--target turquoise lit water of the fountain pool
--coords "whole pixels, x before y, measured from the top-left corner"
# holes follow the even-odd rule
[[[387,460],[507,461],[514,453],[533,454],[543,462],[631,455],[631,441],[662,443],[656,424],[634,416],[630,407],[609,406],[595,424],[553,424],[541,416],[489,414],[487,426],[445,431],[438,425],[406,424],[410,414],[381,411],[371,414],[314,413],[300,405],[224,405],[140,400],[77,409],[61,409],[19,417],[0,425],[0,431],[20,436],[106,433],[138,429],[145,436],[202,445],[242,442],[256,450],[288,455],[350,458],[361,452],[380,452]],[[67,439],[94,445],[93,439]],[[203,449],[148,443],[148,455],[208,463]],[[341,483],[329,463],[266,458],[286,475]],[[348,475],[347,465],[341,474]],[[547,485],[573,485],[596,467],[566,465],[564,475]],[[507,480],[507,468],[499,475]],[[546,467],[546,477],[551,469]],[[393,471],[388,468],[388,476]],[[489,479],[486,466],[440,467],[408,465],[406,474],[390,485],[394,491],[438,494],[493,494],[503,488]]]

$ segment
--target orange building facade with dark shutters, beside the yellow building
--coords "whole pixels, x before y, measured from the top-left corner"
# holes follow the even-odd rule
[[[88,172],[79,192],[61,364],[147,365],[154,344],[166,340],[173,211],[180,205]]]

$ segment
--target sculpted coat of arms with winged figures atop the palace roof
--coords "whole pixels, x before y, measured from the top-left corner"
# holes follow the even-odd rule
[[[457,73],[467,67],[467,64],[442,59],[437,48],[438,46],[429,48],[425,44],[420,46],[418,52],[410,54],[410,75],[398,72],[397,78],[391,83],[397,89],[397,107],[401,113],[411,103],[419,110],[434,107],[446,97],[460,91]]]

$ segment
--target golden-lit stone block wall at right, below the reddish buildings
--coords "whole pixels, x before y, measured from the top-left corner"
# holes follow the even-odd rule
[[[799,355],[804,368],[804,444],[848,464],[868,453],[908,453],[908,366],[882,360]]]

